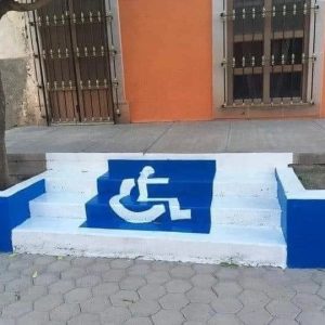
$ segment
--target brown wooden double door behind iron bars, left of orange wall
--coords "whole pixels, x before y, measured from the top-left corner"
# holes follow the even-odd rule
[[[55,0],[32,14],[51,122],[114,121],[113,16],[105,2]]]

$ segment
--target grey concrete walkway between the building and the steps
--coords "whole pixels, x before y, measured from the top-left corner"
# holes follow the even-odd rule
[[[6,132],[8,152],[325,153],[325,120],[247,120],[25,127]]]

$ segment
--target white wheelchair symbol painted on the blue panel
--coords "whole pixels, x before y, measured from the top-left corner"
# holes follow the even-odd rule
[[[157,218],[162,216],[166,212],[165,204],[157,203],[167,203],[169,206],[170,218],[171,220],[190,220],[191,219],[191,209],[181,209],[180,202],[176,197],[164,198],[164,197],[148,197],[147,185],[150,184],[169,184],[168,178],[152,178],[155,174],[155,169],[151,166],[146,166],[140,172],[139,179],[126,179],[121,182],[119,194],[113,196],[109,199],[109,206],[114,212],[119,216],[125,221],[131,223],[148,223],[155,221]],[[131,191],[138,185],[139,197],[138,203],[155,203],[152,207],[144,211],[132,211],[126,208],[121,199],[131,195]]]

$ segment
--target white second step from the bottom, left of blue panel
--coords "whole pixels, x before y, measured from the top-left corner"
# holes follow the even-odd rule
[[[46,193],[29,203],[31,218],[86,218],[86,203],[93,195]]]

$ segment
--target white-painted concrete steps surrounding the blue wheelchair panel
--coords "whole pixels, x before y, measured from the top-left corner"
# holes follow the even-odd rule
[[[262,155],[262,154],[261,154]],[[152,158],[153,155],[151,155]],[[277,154],[257,159],[240,154],[238,170],[235,156],[211,157],[217,160],[209,234],[83,227],[86,206],[107,183],[109,155],[86,154],[77,157],[52,154],[44,173],[47,193],[30,202],[30,216],[13,231],[18,252],[101,257],[143,257],[145,259],[192,262],[231,262],[249,265],[286,265],[286,244],[281,230],[281,208],[276,197],[274,166],[286,161]],[[118,156],[119,157],[119,156]],[[159,155],[161,158],[161,156]],[[182,155],[184,157],[184,155]],[[191,155],[193,157],[193,155]],[[198,155],[199,159],[202,156]],[[114,156],[116,158],[116,155]],[[136,159],[143,156],[136,157]],[[193,158],[192,158],[193,159]],[[94,161],[92,170],[91,161]],[[266,162],[264,167],[263,164]],[[75,167],[73,167],[76,164]],[[218,169],[219,166],[219,169]],[[102,179],[103,181],[103,179]],[[107,181],[107,179],[106,179]],[[117,185],[117,184],[115,184]],[[114,185],[114,186],[115,186]],[[187,183],[184,191],[194,186]],[[105,210],[106,197],[101,209]]]

